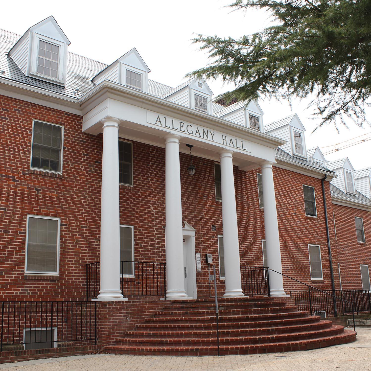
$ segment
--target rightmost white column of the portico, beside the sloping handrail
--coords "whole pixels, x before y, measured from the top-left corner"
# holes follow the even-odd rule
[[[267,251],[267,265],[282,273],[281,248],[279,244],[278,220],[276,208],[275,186],[273,183],[273,162],[265,161],[262,167],[263,200],[264,200],[264,224],[265,244]],[[282,275],[269,271],[270,295],[286,295],[283,289]]]

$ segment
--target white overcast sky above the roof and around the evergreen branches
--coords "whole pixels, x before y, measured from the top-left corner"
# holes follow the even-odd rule
[[[69,51],[112,63],[132,47],[136,47],[151,69],[150,79],[177,86],[184,75],[207,63],[206,54],[191,45],[195,33],[239,37],[267,26],[267,14],[262,10],[232,12],[224,6],[232,0],[111,0],[102,1],[3,1],[0,27],[23,34],[27,28],[53,15],[71,41]],[[219,81],[209,82],[214,95],[229,90]],[[306,146],[324,147],[362,134],[370,133],[352,122],[349,129],[326,127],[311,134],[316,121],[310,119],[308,102],[260,101],[265,124],[297,113],[306,127]],[[370,112],[370,111],[368,111]],[[349,157],[357,168],[371,166],[371,141],[327,155],[328,160]]]

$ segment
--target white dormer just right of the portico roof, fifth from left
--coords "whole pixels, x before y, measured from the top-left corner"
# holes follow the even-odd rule
[[[306,158],[305,127],[297,114],[287,116],[266,125],[265,132],[284,139],[287,143],[280,148],[290,155]]]

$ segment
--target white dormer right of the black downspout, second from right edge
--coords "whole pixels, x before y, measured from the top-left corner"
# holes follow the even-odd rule
[[[354,167],[348,157],[332,162],[327,162],[326,167],[335,172],[338,176],[332,179],[331,183],[345,193],[355,194]]]

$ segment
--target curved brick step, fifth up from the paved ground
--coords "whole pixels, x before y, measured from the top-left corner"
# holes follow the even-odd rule
[[[295,311],[295,312],[282,312],[282,313],[259,313],[259,314],[244,314],[244,315],[230,315],[230,316],[219,316],[220,321],[227,321],[233,319],[259,319],[259,318],[276,318],[276,317],[288,317],[288,316],[306,316],[308,312],[305,311]],[[145,318],[145,322],[178,322],[178,321],[213,321],[215,319],[215,315],[213,316],[198,316],[198,317],[148,317]]]

